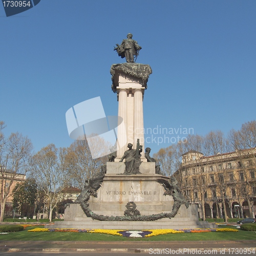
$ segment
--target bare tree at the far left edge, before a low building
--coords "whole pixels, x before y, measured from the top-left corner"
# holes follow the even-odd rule
[[[29,169],[29,158],[33,148],[30,139],[22,134],[12,133],[6,139],[3,134],[4,128],[5,123],[0,121],[0,222],[4,220],[6,200],[11,196],[14,182],[26,179],[25,175]]]

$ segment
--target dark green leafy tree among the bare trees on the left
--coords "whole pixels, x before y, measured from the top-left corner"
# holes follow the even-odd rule
[[[13,191],[13,208],[20,215],[32,217],[35,209],[37,185],[34,179],[27,179],[24,183],[17,183]]]

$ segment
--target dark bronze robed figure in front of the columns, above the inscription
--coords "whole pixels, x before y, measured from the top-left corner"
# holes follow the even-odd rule
[[[133,149],[133,144],[128,143],[127,147],[129,150],[126,150],[120,159],[119,162],[122,162],[125,158],[125,175],[132,175],[132,174],[140,174],[139,172],[139,166],[141,164],[140,161],[140,153],[142,152],[142,146],[139,144],[139,141],[137,140],[137,149]]]

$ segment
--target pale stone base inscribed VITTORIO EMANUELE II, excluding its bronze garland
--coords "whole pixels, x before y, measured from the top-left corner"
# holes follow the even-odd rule
[[[88,203],[94,214],[103,216],[124,216],[128,202],[134,202],[141,216],[172,212],[174,200],[164,196],[165,189],[158,179],[167,177],[155,174],[155,163],[142,162],[141,174],[122,175],[124,163],[108,162],[101,187],[97,190],[97,198],[91,196]],[[53,227],[51,225],[51,227]],[[156,221],[98,221],[87,217],[79,204],[71,204],[65,210],[65,221],[55,222],[54,228],[84,229],[180,229],[215,227],[207,222],[198,221],[197,205],[188,208],[181,205],[172,219],[163,218]]]

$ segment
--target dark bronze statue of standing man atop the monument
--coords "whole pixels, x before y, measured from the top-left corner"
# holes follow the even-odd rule
[[[133,40],[133,35],[131,33],[127,34],[127,39],[123,39],[122,44],[119,46],[116,44],[116,47],[114,47],[114,51],[117,51],[118,56],[121,58],[126,59],[126,62],[135,62],[139,51],[142,49],[138,42]],[[134,60],[134,56],[136,56],[136,59]]]

